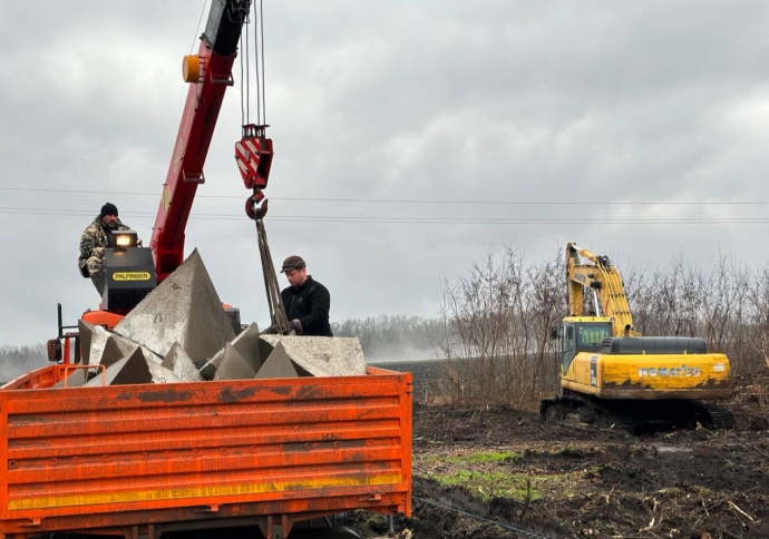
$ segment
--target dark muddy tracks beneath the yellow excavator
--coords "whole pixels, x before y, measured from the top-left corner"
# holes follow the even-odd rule
[[[623,430],[631,434],[733,427],[727,408],[694,400],[612,401],[564,394],[543,400],[539,414],[547,423],[594,424],[600,429]]]

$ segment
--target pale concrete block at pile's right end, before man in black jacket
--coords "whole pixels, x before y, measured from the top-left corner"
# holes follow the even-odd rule
[[[313,376],[366,374],[363,350],[357,337],[262,335],[260,339],[273,349],[278,343],[283,344],[294,365]]]

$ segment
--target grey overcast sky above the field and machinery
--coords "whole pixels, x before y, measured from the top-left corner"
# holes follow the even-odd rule
[[[98,306],[77,257],[105,202],[148,243],[204,3],[0,8],[0,344],[32,344],[57,302],[66,323]],[[264,16],[267,235],[278,265],[300,254],[330,288],[332,321],[436,316],[441,275],[505,245],[536,262],[574,241],[621,270],[767,262],[765,1],[265,0]],[[185,253],[264,326],[232,157],[240,60],[233,76]]]

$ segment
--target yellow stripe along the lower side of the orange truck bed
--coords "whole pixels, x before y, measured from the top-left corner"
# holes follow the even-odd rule
[[[53,507],[94,506],[99,503],[129,503],[135,501],[175,500],[179,498],[206,498],[232,494],[260,494],[289,490],[324,489],[331,487],[362,487],[367,484],[398,484],[403,481],[399,473],[351,477],[305,481],[281,481],[252,484],[225,484],[218,487],[191,487],[186,489],[139,490],[135,492],[106,492],[94,494],[51,496],[8,500],[8,510],[43,509]]]

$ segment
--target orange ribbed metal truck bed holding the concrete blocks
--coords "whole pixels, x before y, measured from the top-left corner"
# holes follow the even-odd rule
[[[0,389],[0,538],[410,516],[410,373],[47,389],[65,369]]]

